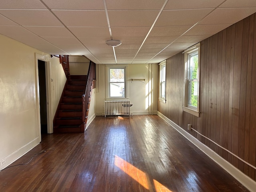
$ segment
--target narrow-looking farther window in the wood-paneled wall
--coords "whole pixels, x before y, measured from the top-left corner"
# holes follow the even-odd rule
[[[159,100],[166,102],[166,60],[160,62]]]

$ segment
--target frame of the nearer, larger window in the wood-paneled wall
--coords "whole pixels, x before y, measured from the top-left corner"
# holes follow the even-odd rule
[[[198,54],[198,72],[197,79],[188,79],[189,70],[189,60],[191,56]],[[183,111],[188,112],[194,116],[199,117],[200,114],[200,43],[186,49],[184,52],[184,102],[183,102]],[[194,107],[188,103],[188,94],[189,90],[189,82],[197,82],[197,107]]]

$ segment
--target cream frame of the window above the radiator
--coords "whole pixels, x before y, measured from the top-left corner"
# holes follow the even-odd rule
[[[124,96],[110,96],[110,69],[124,69]],[[127,88],[127,66],[106,66],[106,98],[107,99],[124,99],[128,98],[128,88]]]

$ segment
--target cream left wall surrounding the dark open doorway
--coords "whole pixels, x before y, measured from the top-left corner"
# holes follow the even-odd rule
[[[3,166],[0,165],[2,169],[41,140],[40,127],[38,127],[40,110],[35,55],[49,61],[50,76],[54,80],[50,83],[52,90],[54,87],[51,93],[52,116],[61,89],[56,84],[57,82],[61,84],[60,81],[64,81],[64,78],[58,72],[60,66],[58,58],[50,58],[50,55],[44,52],[3,35],[0,35],[0,42],[0,146],[2,146],[0,161],[6,160]]]

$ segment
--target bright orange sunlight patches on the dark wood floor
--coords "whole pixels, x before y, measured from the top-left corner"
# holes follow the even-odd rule
[[[128,174],[131,178],[136,180],[140,185],[142,185],[145,189],[149,190],[148,180],[146,177],[146,173],[139,170],[132,164],[128,163],[126,160],[123,160],[122,158],[115,156],[115,166],[120,168],[123,172]],[[163,186],[161,183],[159,183],[157,180],[154,180],[154,187],[156,192],[172,192],[165,186]]]

